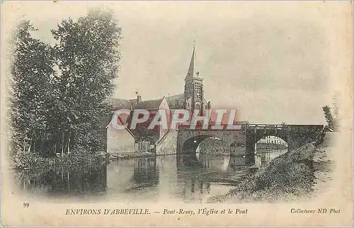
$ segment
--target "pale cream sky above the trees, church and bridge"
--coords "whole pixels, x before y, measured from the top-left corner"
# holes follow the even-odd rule
[[[213,107],[238,108],[254,123],[324,123],[341,36],[338,4],[311,2],[11,3],[16,16],[52,43],[50,29],[89,8],[113,11],[122,28],[113,97],[143,100],[183,93],[195,40],[195,71]],[[41,8],[46,8],[42,10]],[[329,10],[331,8],[331,11]],[[337,14],[338,15],[337,15]],[[12,21],[11,21],[12,20]],[[340,34],[340,33],[339,33]]]

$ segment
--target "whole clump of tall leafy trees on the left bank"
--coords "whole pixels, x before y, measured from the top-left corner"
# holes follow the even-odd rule
[[[21,21],[13,35],[12,150],[42,156],[103,150],[104,101],[120,61],[117,21],[106,11],[63,20],[52,30],[54,47],[33,38],[35,30]]]

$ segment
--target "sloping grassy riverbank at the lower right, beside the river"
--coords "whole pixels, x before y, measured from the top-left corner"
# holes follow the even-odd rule
[[[306,144],[282,154],[241,181],[225,195],[213,196],[209,203],[274,203],[306,200],[322,188],[331,172],[326,144]]]

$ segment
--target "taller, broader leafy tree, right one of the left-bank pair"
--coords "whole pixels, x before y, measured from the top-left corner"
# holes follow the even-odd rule
[[[118,74],[121,30],[113,14],[91,11],[87,16],[59,23],[52,30],[59,72],[54,81],[61,150],[67,153],[84,147],[102,149],[107,114],[103,101],[113,93]]]

